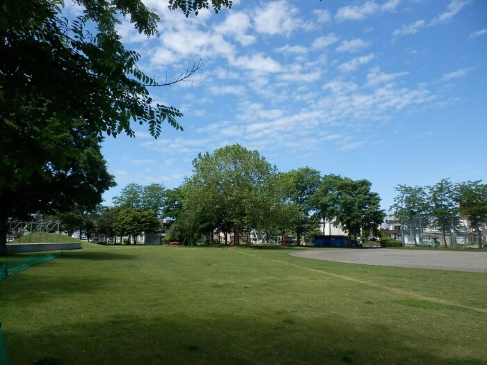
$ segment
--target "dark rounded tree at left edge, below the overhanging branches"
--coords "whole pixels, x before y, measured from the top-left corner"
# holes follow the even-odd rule
[[[101,138],[82,123],[32,122],[9,130],[23,137],[18,143],[0,133],[0,254],[6,252],[9,216],[29,219],[33,213],[63,213],[74,206],[89,212],[115,185],[100,152]],[[31,154],[23,156],[27,151]]]

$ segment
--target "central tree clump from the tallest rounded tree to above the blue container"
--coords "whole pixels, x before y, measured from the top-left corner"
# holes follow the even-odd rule
[[[165,214],[175,219],[170,233],[191,242],[215,230],[233,233],[250,229],[267,237],[317,233],[320,222],[333,222],[349,237],[378,234],[384,212],[380,197],[365,179],[324,175],[312,168],[278,172],[257,151],[230,145],[199,154],[193,175],[168,192]]]

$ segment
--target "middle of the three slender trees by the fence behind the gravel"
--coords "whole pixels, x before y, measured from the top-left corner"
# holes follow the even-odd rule
[[[433,186],[428,186],[428,205],[433,222],[440,227],[443,245],[447,245],[447,230],[452,231],[458,225],[458,204],[455,201],[455,186],[449,179],[441,179]]]

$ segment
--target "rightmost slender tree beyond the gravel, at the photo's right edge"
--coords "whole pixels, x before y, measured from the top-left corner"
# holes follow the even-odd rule
[[[481,184],[481,180],[467,181],[457,184],[455,190],[454,200],[458,203],[458,211],[474,227],[477,245],[482,248],[482,232],[479,226],[487,222],[487,184]]]

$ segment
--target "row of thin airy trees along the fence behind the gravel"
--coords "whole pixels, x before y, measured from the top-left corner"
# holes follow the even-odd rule
[[[447,247],[447,232],[458,229],[460,218],[465,218],[476,231],[479,248],[482,247],[479,226],[487,222],[487,184],[481,184],[481,180],[453,184],[441,179],[433,186],[399,185],[395,190],[398,195],[390,209],[401,220],[403,230],[422,222],[439,227]]]

